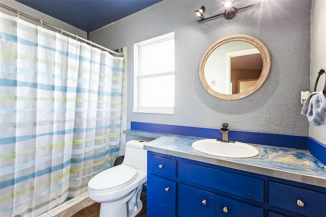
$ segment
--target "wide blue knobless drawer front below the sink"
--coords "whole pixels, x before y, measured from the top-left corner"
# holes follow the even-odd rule
[[[179,162],[179,177],[236,196],[263,202],[264,181],[208,167]]]

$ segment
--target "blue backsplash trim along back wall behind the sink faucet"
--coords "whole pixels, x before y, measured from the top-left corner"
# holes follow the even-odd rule
[[[210,139],[222,139],[220,129],[176,126],[167,124],[153,124],[142,122],[131,122],[131,129],[145,130],[150,132],[164,132],[193,137]],[[262,132],[229,131],[229,140],[244,143],[253,143],[284,148],[306,149],[306,137],[298,135],[282,135]],[[326,155],[325,155],[326,156]]]

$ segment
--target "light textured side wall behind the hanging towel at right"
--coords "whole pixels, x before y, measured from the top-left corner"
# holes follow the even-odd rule
[[[326,1],[313,0],[311,6],[310,91],[314,89],[320,69],[326,69]],[[325,75],[318,81],[317,92],[325,84]],[[309,136],[326,144],[326,127],[309,126]]]

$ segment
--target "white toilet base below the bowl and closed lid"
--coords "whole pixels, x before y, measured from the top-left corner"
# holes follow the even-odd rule
[[[134,217],[143,208],[140,199],[143,185],[134,189],[130,195],[122,200],[109,203],[101,203],[99,217]]]

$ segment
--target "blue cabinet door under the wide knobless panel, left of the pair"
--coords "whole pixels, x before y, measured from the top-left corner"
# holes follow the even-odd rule
[[[178,186],[178,217],[214,216],[215,195],[185,184]]]

